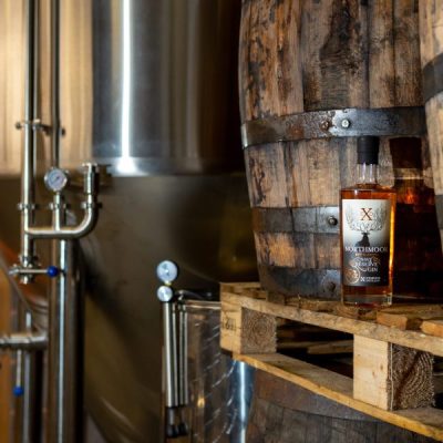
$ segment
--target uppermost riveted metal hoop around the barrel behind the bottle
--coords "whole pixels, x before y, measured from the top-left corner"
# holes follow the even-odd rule
[[[420,136],[426,133],[422,106],[330,110],[253,120],[241,125],[243,146],[310,138]]]

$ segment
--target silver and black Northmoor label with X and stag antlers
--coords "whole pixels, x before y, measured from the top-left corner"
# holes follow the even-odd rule
[[[343,285],[388,286],[391,202],[342,200]]]

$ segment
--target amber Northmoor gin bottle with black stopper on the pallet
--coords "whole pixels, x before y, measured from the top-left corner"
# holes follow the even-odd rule
[[[357,142],[357,184],[340,193],[342,302],[392,303],[395,190],[379,185],[379,138]]]

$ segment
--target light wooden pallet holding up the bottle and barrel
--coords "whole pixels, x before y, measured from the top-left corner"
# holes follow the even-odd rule
[[[443,441],[433,403],[433,357],[443,357],[440,305],[380,311],[339,302],[268,301],[258,284],[222,285],[222,348],[236,360],[391,424]],[[277,353],[277,319],[353,336],[353,378]]]

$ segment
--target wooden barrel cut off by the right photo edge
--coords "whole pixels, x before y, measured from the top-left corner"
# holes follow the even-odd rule
[[[435,206],[443,248],[443,1],[420,2],[423,96],[434,175]]]

